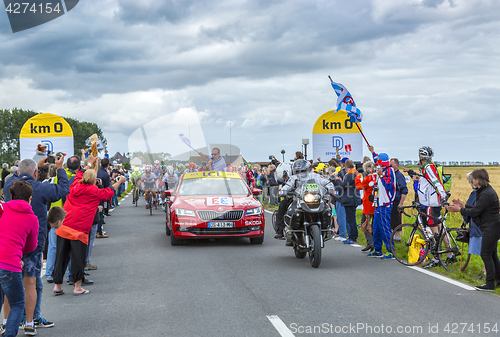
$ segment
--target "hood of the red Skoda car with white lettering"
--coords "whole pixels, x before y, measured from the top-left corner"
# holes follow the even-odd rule
[[[260,202],[252,196],[217,197],[213,195],[178,196],[174,202],[175,207],[188,209],[214,209],[219,212],[229,209],[249,209],[261,206]]]

